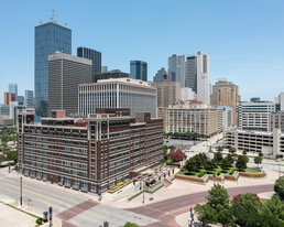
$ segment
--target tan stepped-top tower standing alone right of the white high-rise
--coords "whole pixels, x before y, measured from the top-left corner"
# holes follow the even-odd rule
[[[232,107],[232,125],[237,123],[237,105],[241,101],[239,87],[226,78],[212,86],[211,105]]]

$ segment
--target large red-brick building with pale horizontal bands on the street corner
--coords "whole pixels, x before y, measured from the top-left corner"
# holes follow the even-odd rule
[[[162,120],[150,114],[43,118],[35,125],[33,114],[24,111],[18,120],[19,172],[25,176],[98,193],[163,161]]]

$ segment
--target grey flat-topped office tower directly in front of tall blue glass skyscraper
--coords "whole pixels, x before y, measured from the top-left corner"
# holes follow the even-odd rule
[[[91,61],[56,52],[48,56],[48,116],[64,109],[78,112],[78,84],[91,83]]]

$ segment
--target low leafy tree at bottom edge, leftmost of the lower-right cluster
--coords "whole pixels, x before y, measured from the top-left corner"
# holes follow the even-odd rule
[[[197,215],[197,219],[205,224],[216,224],[218,221],[217,212],[209,204],[197,204],[195,206],[195,213]]]

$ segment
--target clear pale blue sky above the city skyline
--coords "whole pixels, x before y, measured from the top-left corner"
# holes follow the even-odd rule
[[[173,54],[210,54],[210,80],[228,78],[242,100],[273,100],[284,91],[282,0],[0,0],[0,102],[9,83],[34,88],[34,26],[56,20],[78,46],[101,52],[102,65],[130,72],[148,63],[149,80]]]

